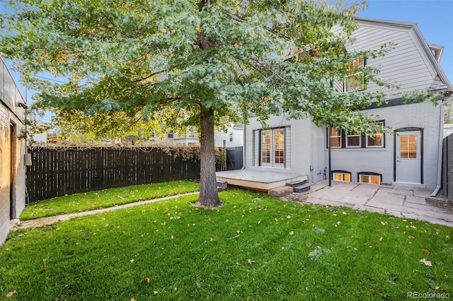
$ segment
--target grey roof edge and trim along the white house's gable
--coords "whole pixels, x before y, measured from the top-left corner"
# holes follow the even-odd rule
[[[420,29],[418,28],[417,23],[410,23],[410,22],[401,22],[401,21],[394,21],[394,20],[382,20],[382,19],[375,19],[375,18],[363,18],[363,17],[356,17],[357,22],[360,23],[369,23],[375,25],[382,25],[382,26],[389,26],[392,28],[401,28],[406,30],[411,30],[414,34],[415,39],[417,40],[418,44],[421,45],[420,51],[425,52],[425,57],[428,58],[428,63],[432,66],[432,68],[437,73],[434,77],[430,85],[430,90],[439,90],[439,91],[447,91],[449,93],[453,92],[452,84],[449,82],[445,72],[442,70],[442,67],[439,64],[440,57],[442,55],[443,48],[440,45],[428,44],[426,42],[425,37],[421,33]]]

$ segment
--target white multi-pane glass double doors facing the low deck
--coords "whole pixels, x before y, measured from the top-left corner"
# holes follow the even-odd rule
[[[285,167],[285,129],[262,130],[260,165]]]

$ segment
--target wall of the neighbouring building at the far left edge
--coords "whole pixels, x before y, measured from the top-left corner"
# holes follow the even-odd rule
[[[11,78],[4,61],[0,58],[0,244],[6,240],[10,229],[10,220],[18,218],[25,208],[25,140],[18,134],[25,125],[25,110],[18,103],[25,103],[16,84]],[[11,138],[11,124],[15,133]],[[13,153],[11,153],[13,143]],[[12,158],[13,157],[13,158]],[[11,172],[12,179],[11,182]],[[12,192],[13,216],[10,215]]]

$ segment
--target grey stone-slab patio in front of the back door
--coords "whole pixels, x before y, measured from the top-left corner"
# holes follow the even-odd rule
[[[413,187],[321,181],[309,191],[292,193],[282,199],[328,206],[348,206],[357,210],[414,218],[453,227],[453,203],[432,191]]]

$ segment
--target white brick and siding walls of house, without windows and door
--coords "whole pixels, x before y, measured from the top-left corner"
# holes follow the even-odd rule
[[[438,161],[444,114],[442,105],[419,102],[403,104],[401,94],[416,90],[451,90],[445,74],[430,47],[416,25],[384,20],[358,20],[360,28],[354,33],[355,43],[351,50],[379,49],[384,43],[394,46],[384,57],[368,59],[367,66],[380,69],[379,78],[396,83],[399,89],[367,83],[366,90],[382,90],[388,103],[382,107],[364,110],[377,115],[377,121],[394,130],[418,128],[423,131],[423,166],[420,187],[435,189],[438,181]],[[343,90],[343,83],[333,83]],[[295,172],[309,175],[310,182],[328,179],[327,131],[309,120],[287,120],[285,116],[272,116],[270,128],[289,129],[286,142],[287,165],[285,168],[260,166],[260,129],[263,126],[255,118],[246,127],[246,168]],[[396,155],[394,134],[385,134],[384,148],[332,148],[331,170],[351,173],[351,181],[358,182],[358,172],[373,172],[382,175],[382,183],[395,183]],[[423,174],[422,174],[423,172]],[[407,184],[407,183],[406,183]],[[411,183],[412,184],[412,183]],[[417,186],[417,183],[413,183]]]

